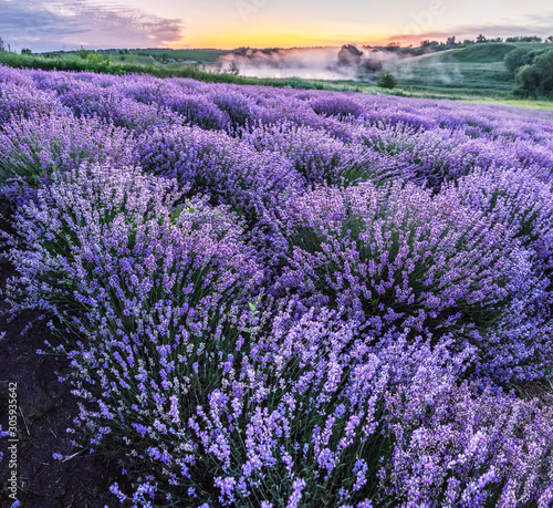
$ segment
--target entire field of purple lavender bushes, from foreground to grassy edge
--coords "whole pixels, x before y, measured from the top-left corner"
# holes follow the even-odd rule
[[[13,312],[136,506],[551,506],[553,114],[0,68]],[[72,432],[75,432],[72,429]]]

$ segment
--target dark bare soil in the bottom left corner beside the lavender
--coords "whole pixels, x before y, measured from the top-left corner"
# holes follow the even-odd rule
[[[0,225],[1,227],[6,225]],[[0,246],[1,250],[1,246]],[[1,252],[0,252],[1,255]],[[13,268],[0,257],[0,288],[13,276]],[[109,485],[118,479],[121,468],[109,464],[98,454],[90,454],[87,448],[75,448],[71,442],[73,434],[66,428],[77,415],[77,401],[71,393],[69,383],[58,376],[67,372],[67,361],[46,351],[44,341],[56,345],[54,336],[38,319],[25,312],[9,321],[8,305],[0,296],[0,425],[8,428],[8,406],[10,383],[17,383],[18,443],[17,443],[17,499],[23,508],[95,508],[116,507],[121,502],[109,493]],[[29,322],[32,328],[22,335]],[[0,507],[10,507],[13,499],[8,490],[11,473],[8,453],[9,437],[0,438]],[[76,438],[79,442],[79,437]],[[74,455],[61,462],[52,454]],[[121,483],[121,479],[119,479]]]

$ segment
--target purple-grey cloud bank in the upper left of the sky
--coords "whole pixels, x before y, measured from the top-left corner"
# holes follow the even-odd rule
[[[180,20],[115,2],[0,0],[0,37],[12,49],[156,48],[182,39]]]

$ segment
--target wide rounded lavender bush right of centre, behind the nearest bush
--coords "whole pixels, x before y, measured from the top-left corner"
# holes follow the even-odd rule
[[[274,291],[377,332],[476,333],[519,289],[523,266],[502,231],[413,185],[323,187],[289,201],[281,221],[291,249]]]

